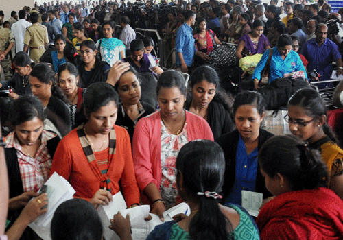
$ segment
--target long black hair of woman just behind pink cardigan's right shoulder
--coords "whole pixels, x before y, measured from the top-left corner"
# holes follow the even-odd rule
[[[212,101],[217,101],[220,104],[223,104],[224,108],[228,110],[228,112],[231,112],[231,106],[233,104],[231,97],[220,86],[220,79],[215,69],[206,65],[197,67],[191,74],[188,82],[189,94],[187,94],[185,106],[191,105],[192,95],[190,88],[193,88],[195,84],[202,81],[206,81],[215,85],[215,96],[213,97]]]

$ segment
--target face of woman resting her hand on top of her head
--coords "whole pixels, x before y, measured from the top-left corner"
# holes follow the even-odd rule
[[[134,73],[121,75],[118,83],[118,93],[125,105],[136,105],[141,99],[141,86]]]

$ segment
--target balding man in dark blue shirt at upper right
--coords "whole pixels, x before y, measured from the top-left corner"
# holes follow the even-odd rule
[[[327,38],[327,25],[318,24],[316,27],[316,38],[308,40],[301,52],[309,61],[307,71],[316,71],[320,74],[319,80],[330,80],[332,74],[332,62],[336,62],[338,75],[343,74],[342,56],[338,46]],[[318,86],[320,87],[320,86]]]

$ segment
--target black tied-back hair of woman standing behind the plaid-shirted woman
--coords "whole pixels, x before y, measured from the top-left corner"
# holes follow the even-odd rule
[[[32,75],[32,77],[37,77],[39,82],[43,82],[43,84],[49,84],[51,82],[51,94],[64,101],[64,103],[68,103],[67,97],[65,97],[62,90],[56,86],[55,72],[48,64],[38,63],[34,69],[32,69],[30,75]]]

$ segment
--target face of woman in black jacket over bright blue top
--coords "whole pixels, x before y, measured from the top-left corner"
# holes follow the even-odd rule
[[[263,120],[256,106],[241,105],[235,113],[235,123],[242,139],[255,139],[259,136],[259,127]]]

